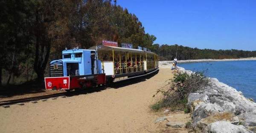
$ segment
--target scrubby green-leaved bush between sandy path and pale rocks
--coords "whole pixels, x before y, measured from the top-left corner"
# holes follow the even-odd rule
[[[193,72],[191,74],[177,72],[169,84],[169,88],[157,90],[157,93],[161,93],[163,97],[160,101],[151,105],[153,110],[159,110],[162,107],[171,107],[184,110],[184,112],[188,113],[189,109],[186,107],[186,103],[189,94],[203,90],[210,83],[203,72]]]

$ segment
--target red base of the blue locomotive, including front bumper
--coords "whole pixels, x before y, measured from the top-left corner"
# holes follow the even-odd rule
[[[93,87],[105,84],[105,73],[86,76],[65,76],[44,78],[47,90],[72,90],[82,87]]]

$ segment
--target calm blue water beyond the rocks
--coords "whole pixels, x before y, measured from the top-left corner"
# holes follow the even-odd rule
[[[247,98],[256,100],[256,61],[216,61],[184,63],[178,66],[192,71],[205,71],[208,77],[217,78]]]

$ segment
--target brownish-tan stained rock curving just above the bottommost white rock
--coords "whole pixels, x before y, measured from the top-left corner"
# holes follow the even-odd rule
[[[233,113],[221,112],[215,113],[211,116],[201,119],[196,123],[195,131],[201,133],[204,130],[207,130],[207,126],[216,121],[227,121],[232,124],[239,124],[239,119]]]

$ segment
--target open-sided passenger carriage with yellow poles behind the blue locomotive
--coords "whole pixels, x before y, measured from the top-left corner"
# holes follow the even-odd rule
[[[93,46],[108,80],[143,75],[158,68],[158,55],[140,49],[115,46]]]

